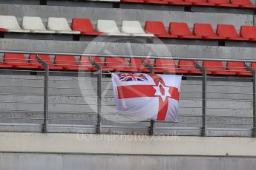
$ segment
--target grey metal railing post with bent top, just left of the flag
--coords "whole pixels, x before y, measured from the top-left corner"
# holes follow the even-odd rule
[[[99,66],[95,61],[93,61],[90,57],[90,62],[93,64],[98,70],[98,81],[97,81],[97,123],[96,123],[96,133],[100,134],[102,132],[102,67]]]

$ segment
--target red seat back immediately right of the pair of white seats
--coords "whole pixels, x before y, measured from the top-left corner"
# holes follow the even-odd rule
[[[166,35],[168,34],[165,29],[165,25],[161,21],[146,21],[145,30],[148,33],[154,33],[157,35]]]

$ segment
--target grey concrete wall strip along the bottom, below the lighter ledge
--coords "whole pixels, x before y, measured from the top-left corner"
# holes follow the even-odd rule
[[[255,157],[0,153],[3,170],[254,170]]]

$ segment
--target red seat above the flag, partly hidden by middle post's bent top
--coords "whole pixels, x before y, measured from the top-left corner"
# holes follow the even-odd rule
[[[143,65],[142,58],[130,58],[129,67],[131,72],[150,72],[148,68]],[[148,59],[145,59],[146,63],[150,63]]]

